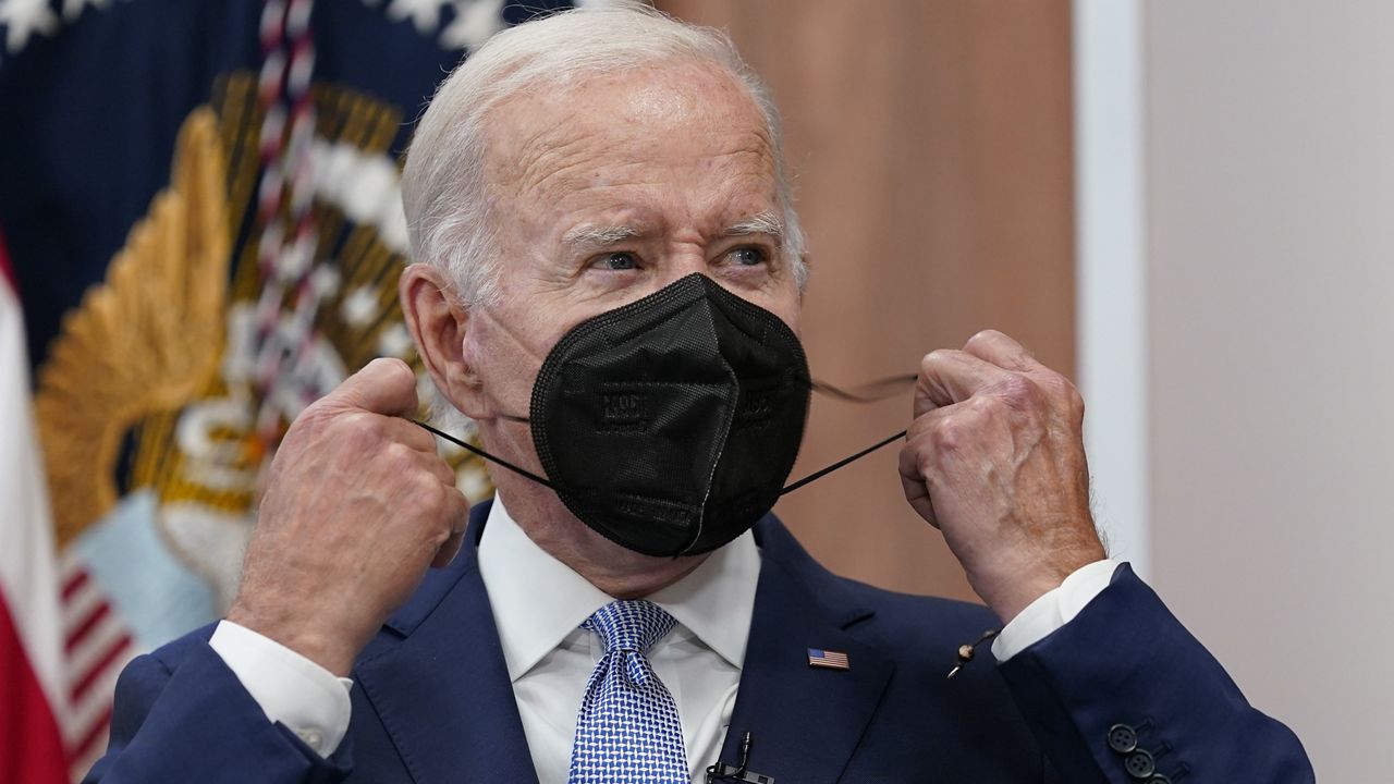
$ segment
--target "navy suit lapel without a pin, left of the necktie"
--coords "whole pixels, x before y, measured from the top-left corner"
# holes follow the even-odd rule
[[[427,575],[354,671],[417,784],[537,781],[480,578],[488,508],[474,508],[454,564]]]

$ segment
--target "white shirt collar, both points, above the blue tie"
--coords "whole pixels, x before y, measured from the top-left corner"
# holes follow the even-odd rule
[[[480,576],[514,682],[597,610],[613,601],[528,538],[502,498],[493,499],[480,538]],[[758,579],[760,550],[746,532],[648,600],[740,668]]]

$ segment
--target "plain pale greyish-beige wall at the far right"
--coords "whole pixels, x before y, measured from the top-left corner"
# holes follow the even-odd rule
[[[1394,3],[1144,29],[1154,582],[1322,781],[1391,781]]]

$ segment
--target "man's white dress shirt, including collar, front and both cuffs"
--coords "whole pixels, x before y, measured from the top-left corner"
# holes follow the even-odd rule
[[[1005,661],[1068,624],[1108,586],[1118,561],[1089,564],[1033,601],[993,642]],[[523,533],[500,499],[480,541],[480,572],[541,784],[565,784],[576,714],[604,647],[580,624],[612,601]],[[760,551],[747,532],[648,598],[677,625],[648,653],[673,695],[694,783],[717,762],[736,704],[754,612]],[[270,721],[328,756],[348,730],[353,681],[275,640],[223,621],[209,644]]]

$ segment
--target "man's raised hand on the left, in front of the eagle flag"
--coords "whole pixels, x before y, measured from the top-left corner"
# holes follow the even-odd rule
[[[417,412],[406,363],[378,359],[305,409],[272,460],[227,619],[335,675],[460,548],[470,505]]]

